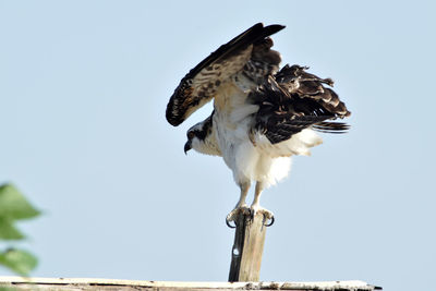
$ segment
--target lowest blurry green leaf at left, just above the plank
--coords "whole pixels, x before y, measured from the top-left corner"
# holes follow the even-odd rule
[[[4,253],[0,253],[0,264],[21,276],[27,276],[36,267],[37,263],[36,257],[25,251],[8,250]]]

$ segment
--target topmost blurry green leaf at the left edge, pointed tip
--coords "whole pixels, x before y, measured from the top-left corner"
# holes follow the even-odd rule
[[[14,185],[0,186],[0,217],[11,220],[27,219],[39,214]]]

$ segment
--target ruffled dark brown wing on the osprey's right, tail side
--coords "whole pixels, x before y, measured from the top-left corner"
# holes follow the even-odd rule
[[[250,96],[259,106],[254,129],[271,144],[287,141],[310,126],[329,133],[349,129],[346,123],[327,121],[351,114],[338,95],[324,86],[332,86],[334,82],[310,74],[306,69],[286,65]]]

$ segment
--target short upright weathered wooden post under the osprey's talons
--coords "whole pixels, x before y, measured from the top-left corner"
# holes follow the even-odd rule
[[[257,211],[254,218],[244,211],[238,214],[229,282],[259,280],[265,223],[263,211]]]

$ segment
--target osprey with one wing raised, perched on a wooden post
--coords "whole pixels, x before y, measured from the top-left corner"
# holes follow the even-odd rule
[[[192,69],[171,96],[166,117],[177,126],[214,99],[214,111],[187,131],[186,153],[222,157],[241,190],[240,199],[226,221],[239,211],[252,216],[270,211],[259,205],[261,193],[288,175],[291,156],[310,155],[322,143],[315,133],[342,133],[349,125],[332,122],[350,116],[329,87],[331,78],[306,72],[308,68],[284,65],[271,49],[270,35],[282,25],[255,24]],[[245,204],[252,181],[254,201]]]

